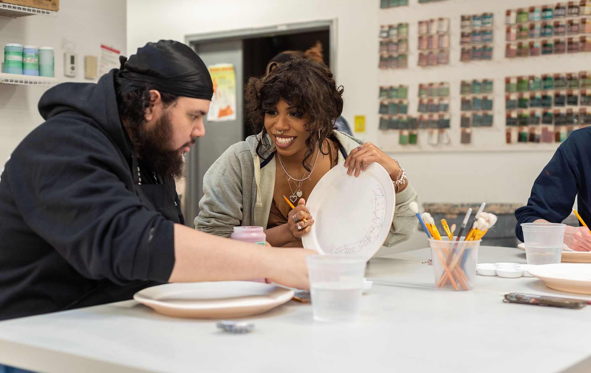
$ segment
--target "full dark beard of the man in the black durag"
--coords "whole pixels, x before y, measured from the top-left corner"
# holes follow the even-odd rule
[[[173,137],[173,126],[168,112],[163,112],[151,130],[145,128],[143,121],[130,123],[129,130],[138,158],[150,165],[152,171],[161,176],[183,178],[183,148],[189,143],[176,150],[167,149]]]

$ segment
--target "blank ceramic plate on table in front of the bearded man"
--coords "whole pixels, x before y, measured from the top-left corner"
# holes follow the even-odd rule
[[[294,292],[251,281],[170,283],[148,287],[134,299],[181,318],[228,319],[256,315],[288,302]]]

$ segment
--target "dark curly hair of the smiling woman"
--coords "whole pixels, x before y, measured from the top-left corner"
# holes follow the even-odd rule
[[[256,153],[261,158],[264,156],[263,141],[267,148],[271,146],[265,136],[265,113],[284,99],[310,116],[305,125],[309,133],[306,139],[308,151],[302,161],[304,168],[310,171],[310,158],[316,143],[322,143],[330,135],[335,120],[343,112],[343,91],[342,86],[336,86],[330,69],[311,58],[294,57],[262,77],[249,78],[245,89],[245,112],[255,133],[262,133]]]

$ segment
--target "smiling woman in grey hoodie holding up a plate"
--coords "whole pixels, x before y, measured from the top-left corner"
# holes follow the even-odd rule
[[[301,237],[314,224],[306,200],[322,176],[337,165],[359,176],[378,162],[398,193],[384,244],[407,240],[416,225],[408,204],[417,194],[395,159],[334,129],[343,110],[343,87],[329,68],[293,58],[269,70],[250,78],[245,91],[245,111],[258,135],[231,146],[206,172],[196,228],[228,237],[237,225],[256,225],[265,228],[272,246],[301,247]]]

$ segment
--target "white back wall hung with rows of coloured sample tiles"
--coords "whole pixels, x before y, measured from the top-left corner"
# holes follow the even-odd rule
[[[397,158],[417,189],[423,202],[522,202],[530,194],[531,184],[556,148],[547,144],[502,146],[504,139],[504,77],[520,74],[542,74],[580,71],[591,54],[576,57],[551,55],[507,60],[505,53],[504,12],[508,8],[542,5],[545,0],[446,0],[428,5],[410,0],[411,6],[379,9],[378,0],[128,0],[128,54],[135,53],[147,41],[171,38],[184,41],[188,34],[265,27],[291,22],[337,19],[337,83],[345,87],[344,115],[353,122],[355,115],[366,116],[366,133],[358,136],[376,142],[384,149],[396,149],[397,136],[378,131],[378,86],[408,84],[410,113],[416,113],[418,83],[450,81],[452,99],[452,137],[459,138],[460,80],[495,78],[495,124],[492,129],[473,131],[469,152],[400,152]],[[460,14],[494,12],[493,61],[464,64],[459,62]],[[419,68],[416,66],[417,21],[449,17],[450,65]],[[378,71],[378,31],[381,23],[409,22],[409,68],[400,71]],[[583,60],[584,59],[584,60]],[[588,67],[588,63],[587,63]],[[501,140],[499,140],[499,138]],[[546,146],[544,146],[546,145]],[[486,149],[505,148],[504,152]],[[530,150],[525,150],[530,149]],[[432,150],[432,149],[430,149]],[[458,165],[472,162],[472,169]],[[417,233],[398,250],[427,246],[423,233]],[[384,253],[388,253],[386,250]]]

